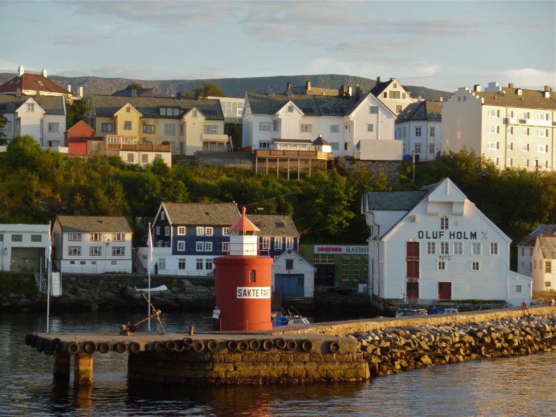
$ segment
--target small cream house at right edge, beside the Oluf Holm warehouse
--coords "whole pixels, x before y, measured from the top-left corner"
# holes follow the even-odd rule
[[[533,291],[556,290],[556,224],[541,224],[517,245],[518,271],[532,277]]]

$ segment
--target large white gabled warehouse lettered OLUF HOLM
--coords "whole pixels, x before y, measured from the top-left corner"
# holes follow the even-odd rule
[[[369,291],[400,300],[530,300],[509,270],[510,239],[450,179],[414,191],[363,194],[371,227]]]

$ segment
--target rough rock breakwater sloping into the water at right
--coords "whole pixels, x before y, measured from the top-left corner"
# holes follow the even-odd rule
[[[466,324],[401,326],[355,332],[370,376],[489,357],[556,350],[556,313]]]

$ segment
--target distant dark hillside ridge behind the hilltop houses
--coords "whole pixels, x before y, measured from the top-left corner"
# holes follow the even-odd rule
[[[15,74],[1,73],[0,84],[5,83],[13,78]],[[237,79],[199,79],[199,80],[136,80],[136,79],[106,79],[97,76],[49,76],[50,79],[56,81],[59,85],[67,88],[72,85],[72,90],[83,87],[85,97],[93,94],[112,94],[117,90],[126,88],[133,82],[139,82],[147,88],[154,88],[159,95],[175,95],[177,92],[188,92],[193,88],[202,87],[205,81],[211,81],[220,86],[227,97],[245,97],[245,92],[267,92],[272,85],[275,92],[285,92],[286,84],[292,83],[294,86],[305,85],[306,81],[320,88],[340,88],[341,85],[349,85],[355,87],[357,84],[361,86],[363,91],[368,91],[375,86],[376,81],[366,79],[360,76],[350,76],[341,74],[319,74],[319,75],[293,75],[293,76],[261,76],[253,78],[237,78]],[[384,81],[384,80],[383,80]],[[441,90],[432,90],[431,88],[406,85],[407,90],[414,97],[423,97],[429,100],[438,100],[439,97],[448,98],[452,93]]]

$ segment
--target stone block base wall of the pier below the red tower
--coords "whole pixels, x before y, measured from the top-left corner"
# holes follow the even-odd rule
[[[185,345],[188,339],[184,338]],[[195,340],[189,349],[129,354],[129,379],[171,384],[297,384],[363,381],[369,371],[353,338]],[[178,343],[179,344],[179,343]]]

